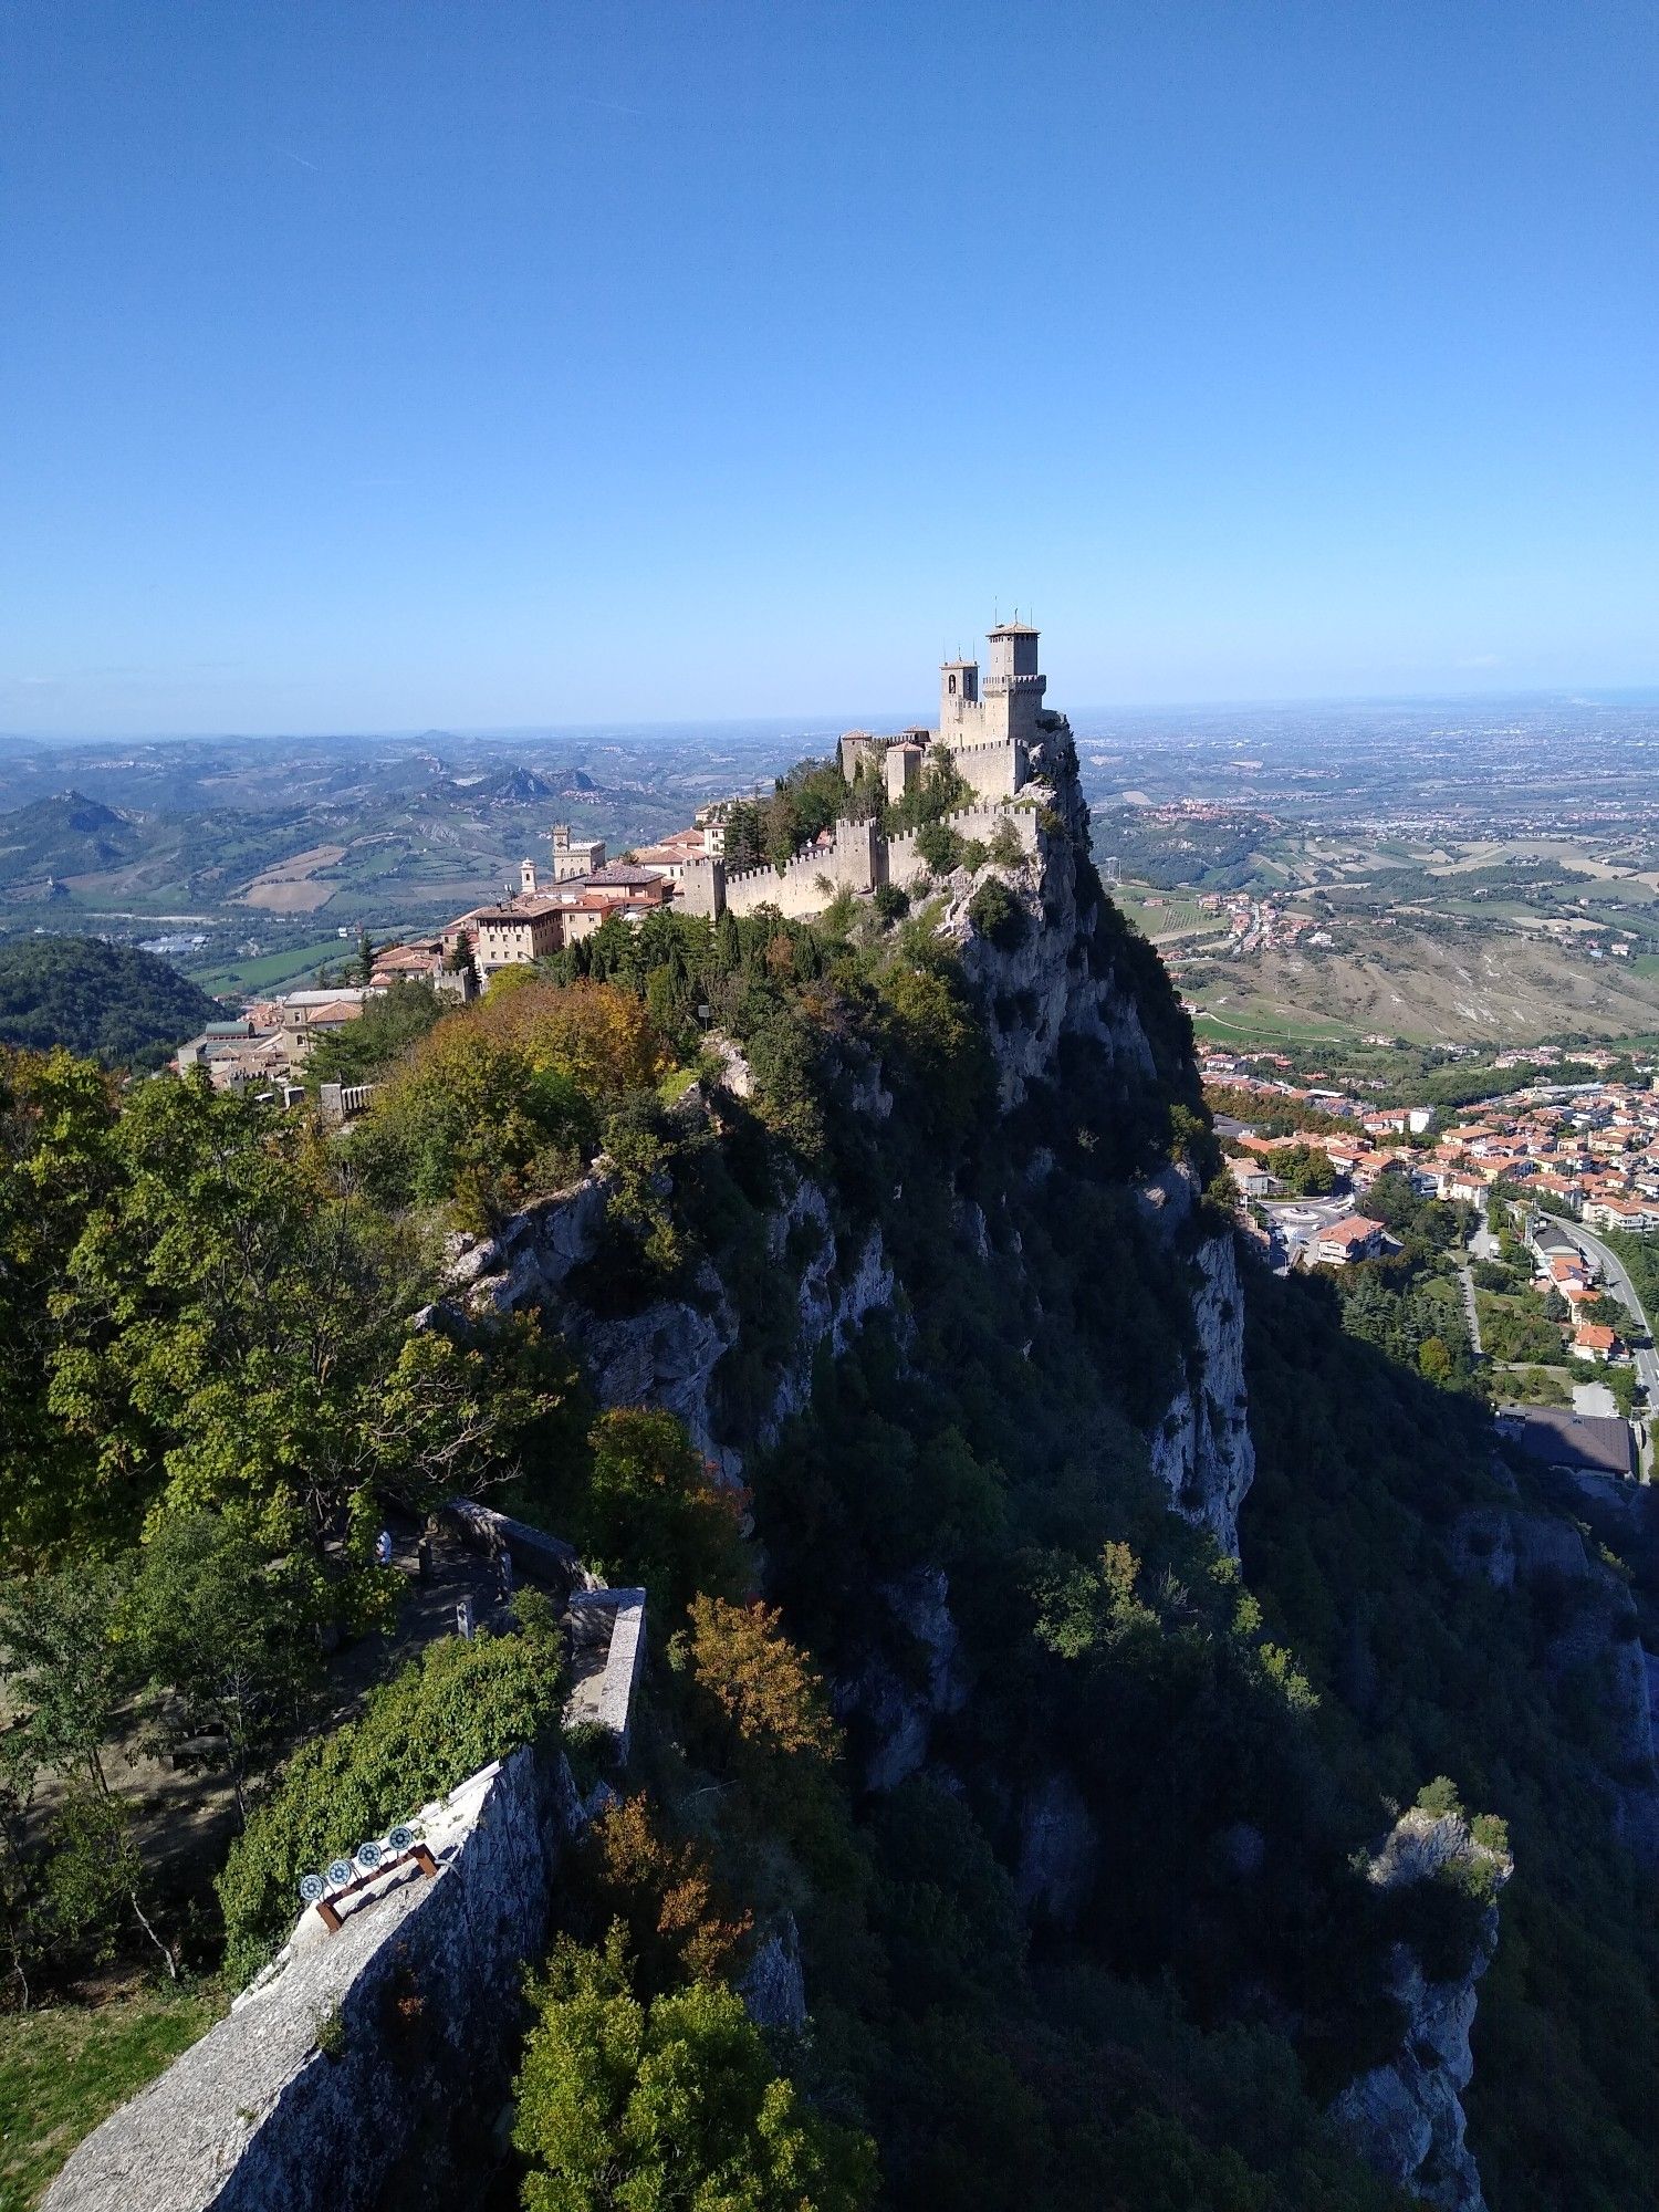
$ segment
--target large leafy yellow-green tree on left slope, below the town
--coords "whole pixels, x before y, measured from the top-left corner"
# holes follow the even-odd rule
[[[248,1504],[285,1542],[294,1506],[321,1535],[369,1484],[425,1509],[513,1469],[560,1400],[535,1327],[422,1327],[434,1254],[303,1121],[157,1082],[115,1137],[124,1175],[58,1294],[77,1517]]]

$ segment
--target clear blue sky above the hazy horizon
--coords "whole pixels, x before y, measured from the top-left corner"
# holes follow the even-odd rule
[[[0,730],[1659,681],[1655,0],[0,0]]]

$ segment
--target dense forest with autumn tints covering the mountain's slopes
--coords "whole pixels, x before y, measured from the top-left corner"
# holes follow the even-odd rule
[[[1593,1641],[1548,1663],[1601,1584],[1469,1573],[1458,1528],[1548,1502],[1460,1387],[1427,1219],[1374,1292],[1250,1272],[1241,1559],[1170,1511],[1148,1433],[1228,1192],[1164,971],[1066,865],[1075,969],[1144,1048],[1066,1035],[1013,1106],[1018,960],[1073,927],[1018,872],[967,936],[949,885],[606,925],[471,1009],[365,1024],[380,1088],[338,1137],[199,1079],[0,1060],[13,2006],[73,2013],[111,1958],[239,1986],[303,1867],[557,1745],[535,1593],[471,1644],[385,1644],[380,1517],[489,1495],[650,1606],[633,1761],[524,2002],[526,2205],[1400,2205],[1327,2106],[1398,2044],[1400,1942],[1469,1971],[1511,1845],[1469,2093],[1489,2201],[1644,2201],[1652,1889]],[[571,1318],[723,1298],[743,1489],[668,1413],[597,1405],[557,1310],[442,1303],[456,1237],[595,1161]],[[894,1301],[772,1427],[801,1267],[876,1237]],[[900,1772],[883,1699],[929,1672],[918,1590],[947,1593],[958,1694]],[[345,1719],[341,1652],[387,1655]],[[217,1867],[148,1849],[137,1736],[210,1745]],[[1469,1807],[1484,1856],[1383,1891],[1367,1854],[1418,1798]],[[1068,1807],[1077,1880],[1031,1880],[1033,1803]],[[785,1918],[796,2037],[737,1995]]]

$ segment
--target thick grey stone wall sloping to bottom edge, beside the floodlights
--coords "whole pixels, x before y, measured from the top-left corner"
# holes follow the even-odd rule
[[[520,1750],[420,1818],[436,1878],[394,1869],[338,1936],[307,1911],[228,2017],[73,2152],[51,2212],[420,2212],[471,2192],[518,2048],[502,1993],[540,1955],[573,1792]]]

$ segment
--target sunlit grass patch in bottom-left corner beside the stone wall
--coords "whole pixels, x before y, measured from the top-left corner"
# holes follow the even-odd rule
[[[29,2212],[69,2152],[226,2011],[217,1989],[0,2017],[0,2212]]]

